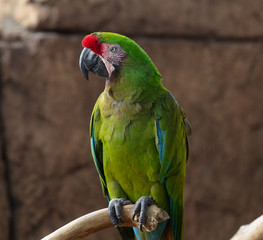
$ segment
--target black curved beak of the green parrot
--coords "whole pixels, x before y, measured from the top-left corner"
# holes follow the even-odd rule
[[[84,48],[79,57],[79,67],[84,77],[89,80],[89,71],[101,77],[109,77],[108,70],[100,56]]]

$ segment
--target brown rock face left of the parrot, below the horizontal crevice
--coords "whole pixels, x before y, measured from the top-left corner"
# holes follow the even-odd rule
[[[87,84],[78,70],[79,41],[29,34],[8,36],[3,45],[1,101],[17,240],[39,239],[107,206],[89,149],[96,82]]]

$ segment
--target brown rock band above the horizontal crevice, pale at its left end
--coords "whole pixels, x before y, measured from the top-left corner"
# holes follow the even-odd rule
[[[261,0],[78,0],[74,3],[70,0],[0,0],[0,3],[3,6],[0,16],[12,16],[22,26],[39,31],[102,30],[133,35],[224,38],[263,36]]]

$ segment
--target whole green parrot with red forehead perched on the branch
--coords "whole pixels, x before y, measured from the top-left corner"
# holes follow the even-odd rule
[[[109,217],[123,239],[183,239],[184,179],[190,124],[146,52],[116,33],[85,36],[80,69],[106,78],[91,116],[92,155]],[[138,228],[121,228],[121,208],[135,203]],[[142,230],[152,204],[170,220]]]

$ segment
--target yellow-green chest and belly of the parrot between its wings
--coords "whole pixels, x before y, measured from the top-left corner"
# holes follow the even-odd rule
[[[151,106],[115,103],[113,108],[101,109],[106,181],[117,181],[131,200],[137,195],[149,195],[152,184],[159,179],[160,160]]]

